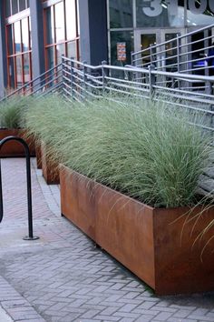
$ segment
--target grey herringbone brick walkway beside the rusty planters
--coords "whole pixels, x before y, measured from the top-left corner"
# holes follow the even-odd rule
[[[214,322],[214,293],[155,297],[138,278],[60,216],[59,188],[32,169],[34,235],[27,234],[24,159],[2,160],[0,318],[14,321]],[[0,320],[0,322],[5,322]]]

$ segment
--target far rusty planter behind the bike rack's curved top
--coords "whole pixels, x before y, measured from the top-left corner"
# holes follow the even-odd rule
[[[34,146],[34,137],[25,138],[24,129],[0,129],[0,140],[6,136],[18,136],[22,137],[29,146],[30,155],[35,156],[35,146]],[[15,157],[15,156],[25,156],[24,146],[17,141],[10,141],[5,144],[1,149],[1,157]]]

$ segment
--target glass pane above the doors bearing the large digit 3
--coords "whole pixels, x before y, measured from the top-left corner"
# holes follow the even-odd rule
[[[138,27],[183,26],[184,1],[136,0],[136,19]]]

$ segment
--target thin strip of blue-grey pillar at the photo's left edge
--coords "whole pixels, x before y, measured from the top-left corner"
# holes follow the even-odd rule
[[[0,1],[0,97],[7,83],[4,1]]]

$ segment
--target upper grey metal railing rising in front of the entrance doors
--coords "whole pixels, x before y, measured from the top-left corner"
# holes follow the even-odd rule
[[[185,35],[178,34],[163,43],[131,54],[131,65],[147,68],[155,65],[159,71],[209,75],[214,55],[214,25],[205,26]]]

